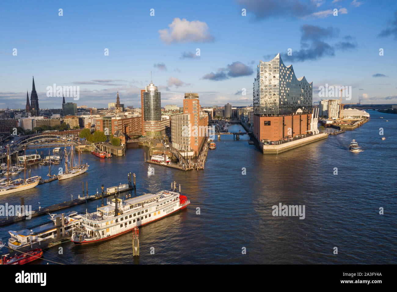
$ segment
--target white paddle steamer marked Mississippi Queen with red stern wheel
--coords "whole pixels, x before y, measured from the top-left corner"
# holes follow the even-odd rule
[[[152,221],[185,208],[190,204],[186,196],[173,191],[160,191],[139,197],[108,201],[96,212],[83,215],[81,228],[73,228],[71,241],[89,244],[114,238]]]

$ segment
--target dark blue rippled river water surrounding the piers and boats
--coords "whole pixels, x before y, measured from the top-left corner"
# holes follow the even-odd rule
[[[246,135],[239,141],[222,135],[216,149],[209,150],[205,170],[199,171],[154,166],[155,174],[148,176],[144,148],[128,149],[125,157],[111,159],[83,153],[83,162],[90,165],[87,173],[26,191],[25,204],[37,209],[39,202],[43,207],[70,200],[71,194],[75,198],[82,193],[86,181],[89,194],[94,194],[101,184],[106,188],[127,183],[129,172],[137,176],[133,196],[170,190],[176,181],[191,204],[140,228],[139,259],[132,256],[132,234],[127,233],[93,245],[66,242],[62,254],[57,246],[35,263],[395,264],[397,115],[369,113],[371,120],[356,130],[279,155],[263,155],[248,144]],[[245,131],[240,125],[229,127],[238,130]],[[349,151],[352,139],[362,152]],[[33,166],[32,175],[44,178],[47,173],[48,166]],[[0,205],[19,204],[20,197],[3,195]],[[305,218],[273,216],[272,206],[279,203],[304,205]],[[90,201],[64,212],[93,212],[100,204]],[[0,237],[6,242],[8,230],[29,228],[47,218],[2,226]]]

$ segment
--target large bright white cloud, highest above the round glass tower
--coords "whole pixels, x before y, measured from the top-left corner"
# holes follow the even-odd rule
[[[182,20],[178,17],[174,18],[172,23],[168,25],[169,29],[160,29],[160,39],[166,44],[172,43],[204,43],[214,40],[208,32],[208,25],[205,22],[193,20]]]

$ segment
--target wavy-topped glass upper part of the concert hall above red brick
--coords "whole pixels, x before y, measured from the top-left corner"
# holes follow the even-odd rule
[[[259,61],[253,85],[256,114],[311,112],[313,82],[295,76],[292,65],[285,66],[280,54],[269,62]]]

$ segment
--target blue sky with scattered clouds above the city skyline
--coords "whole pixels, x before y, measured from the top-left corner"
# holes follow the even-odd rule
[[[78,106],[107,106],[119,89],[140,107],[151,70],[162,106],[187,91],[204,106],[250,105],[259,60],[278,52],[313,81],[313,101],[328,83],[352,86],[352,102],[397,103],[396,1],[13,1],[0,23],[0,108],[25,107],[32,75],[40,108],[61,107],[46,96],[54,83],[79,86]]]

